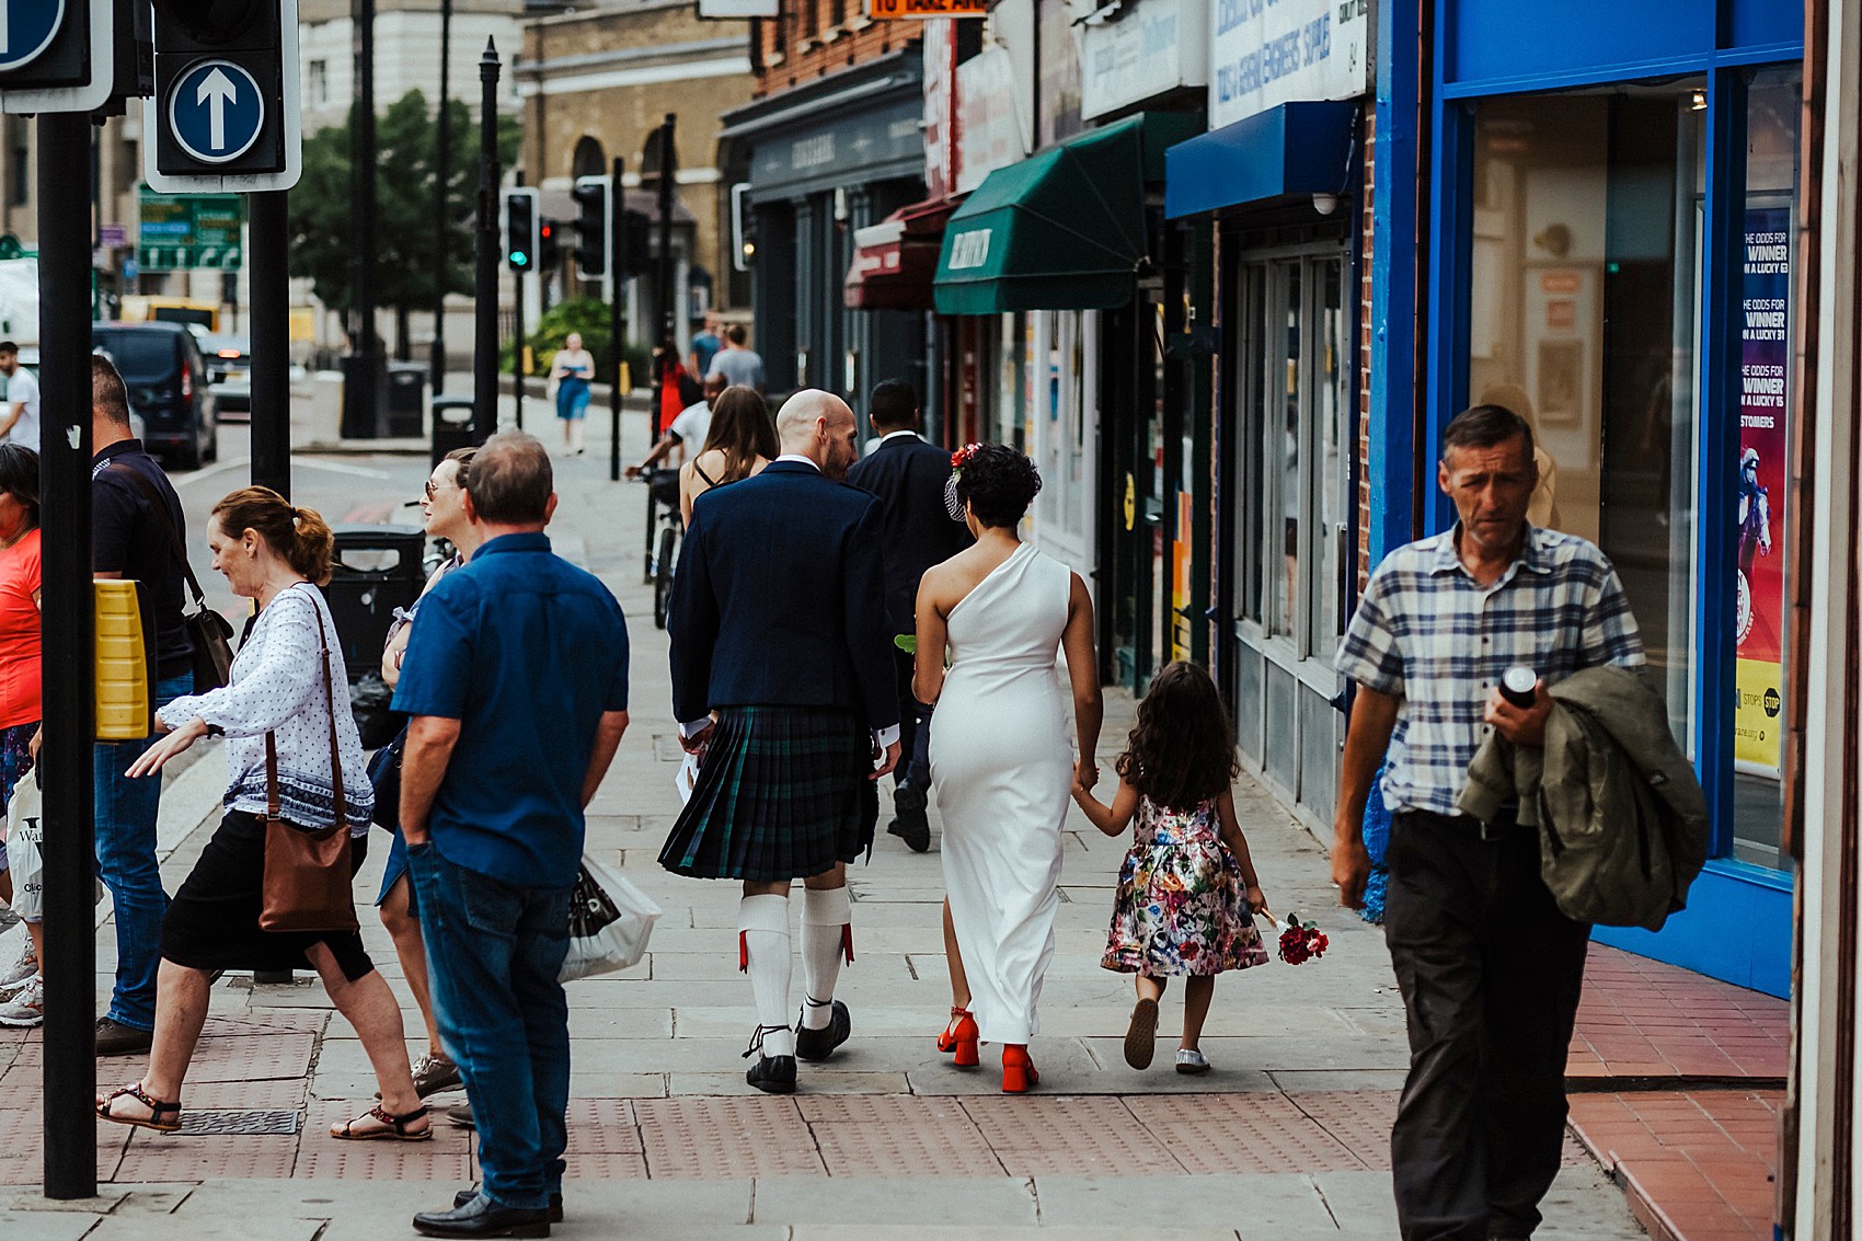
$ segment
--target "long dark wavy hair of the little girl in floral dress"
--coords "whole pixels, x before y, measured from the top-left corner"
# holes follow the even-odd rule
[[[1119,779],[1171,811],[1227,792],[1242,764],[1235,725],[1208,673],[1182,660],[1158,673],[1115,766]]]

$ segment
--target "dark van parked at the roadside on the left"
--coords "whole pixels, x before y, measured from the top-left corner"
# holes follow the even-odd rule
[[[194,334],[179,322],[101,322],[91,345],[110,354],[128,402],[142,414],[142,442],[162,464],[197,470],[220,457],[214,391],[207,358]]]

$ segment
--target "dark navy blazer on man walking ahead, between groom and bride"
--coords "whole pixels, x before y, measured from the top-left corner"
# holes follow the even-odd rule
[[[918,436],[886,440],[847,471],[879,496],[886,527],[886,620],[896,634],[918,632],[918,580],[970,546],[970,531],[950,520],[944,483],[950,453]]]

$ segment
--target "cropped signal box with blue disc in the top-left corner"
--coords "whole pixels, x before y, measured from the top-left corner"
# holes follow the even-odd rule
[[[0,112],[93,112],[110,99],[114,0],[0,9]]]

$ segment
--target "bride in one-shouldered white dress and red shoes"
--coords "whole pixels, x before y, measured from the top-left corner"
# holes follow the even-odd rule
[[[1028,1038],[1054,956],[1061,824],[1074,751],[1056,673],[1065,648],[1078,777],[1099,779],[1099,663],[1093,600],[1080,576],[1017,537],[1041,475],[1000,443],[951,458],[946,490],[976,546],[925,570],[918,587],[914,691],[931,716],[931,783],[944,820],[944,943],[951,1023],[938,1040],[959,1066],[1002,1043],[1002,1088],[1039,1081]],[[946,669],[946,648],[950,667]]]

